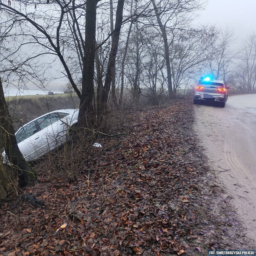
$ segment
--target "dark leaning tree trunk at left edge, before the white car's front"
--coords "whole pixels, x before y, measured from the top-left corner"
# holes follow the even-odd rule
[[[22,156],[14,135],[14,128],[9,114],[8,106],[5,101],[2,80],[0,77],[0,132],[3,138],[2,144],[5,153],[11,163],[11,168],[19,177],[19,186],[25,187],[36,180],[35,170],[25,161]],[[1,170],[0,170],[1,171]]]

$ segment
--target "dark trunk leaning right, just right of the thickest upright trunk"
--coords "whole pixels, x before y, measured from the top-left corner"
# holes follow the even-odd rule
[[[109,95],[109,90],[111,86],[111,81],[114,76],[114,64],[116,61],[116,53],[118,48],[121,25],[123,21],[123,8],[124,8],[124,0],[119,0],[117,3],[117,9],[116,9],[115,31],[113,33],[111,51],[110,51],[108,66],[106,71],[106,78],[105,78],[103,92],[100,99],[100,104],[101,104],[100,114],[104,114],[104,112],[107,110],[108,95]]]

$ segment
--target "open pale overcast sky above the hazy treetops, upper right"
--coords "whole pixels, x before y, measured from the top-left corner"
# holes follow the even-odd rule
[[[200,23],[234,28],[240,43],[256,32],[256,0],[208,0],[207,7],[199,15]]]

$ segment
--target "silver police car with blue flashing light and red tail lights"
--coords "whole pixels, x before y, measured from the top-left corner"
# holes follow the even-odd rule
[[[228,89],[229,87],[221,80],[201,78],[195,88],[194,104],[216,101],[224,108],[228,100]]]

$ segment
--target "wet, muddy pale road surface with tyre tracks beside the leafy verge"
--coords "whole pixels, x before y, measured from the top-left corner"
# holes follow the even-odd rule
[[[225,187],[223,196],[232,198],[247,236],[256,242],[256,94],[229,96],[225,108],[194,106],[194,129],[216,184]]]

